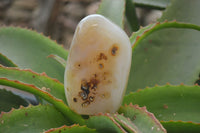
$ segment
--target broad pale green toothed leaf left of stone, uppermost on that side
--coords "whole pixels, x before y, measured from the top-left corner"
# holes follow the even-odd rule
[[[63,66],[47,56],[54,54],[67,59],[68,52],[49,38],[27,29],[2,27],[0,47],[0,53],[19,68],[46,72],[48,76],[63,82]]]

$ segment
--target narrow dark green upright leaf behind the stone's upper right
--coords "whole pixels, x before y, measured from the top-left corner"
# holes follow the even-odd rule
[[[132,0],[126,0],[126,18],[129,22],[131,30],[137,31],[140,26],[135,11],[135,5]]]

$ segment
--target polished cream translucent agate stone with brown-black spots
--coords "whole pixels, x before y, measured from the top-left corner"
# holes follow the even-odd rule
[[[101,15],[77,26],[65,70],[69,107],[79,114],[113,113],[121,105],[131,65],[126,33]]]

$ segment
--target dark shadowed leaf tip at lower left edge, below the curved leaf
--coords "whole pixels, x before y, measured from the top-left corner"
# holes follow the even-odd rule
[[[20,105],[28,106],[28,102],[11,91],[0,89],[0,112],[8,112],[12,107],[19,108]]]

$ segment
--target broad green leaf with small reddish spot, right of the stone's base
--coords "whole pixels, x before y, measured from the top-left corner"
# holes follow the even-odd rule
[[[124,97],[123,104],[146,106],[160,121],[193,121],[200,123],[199,86],[155,86]]]

